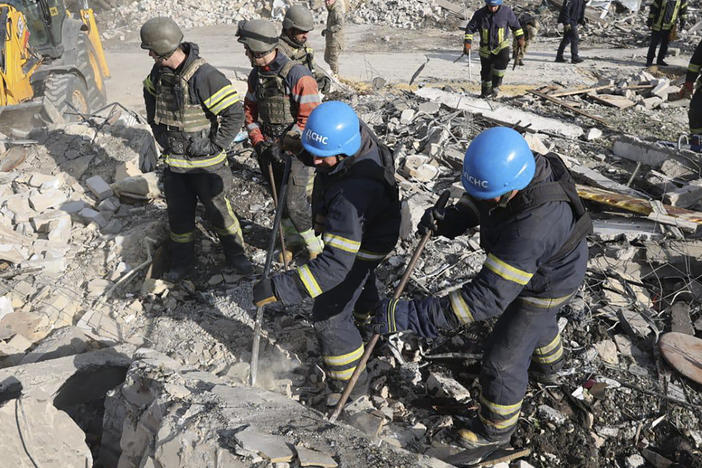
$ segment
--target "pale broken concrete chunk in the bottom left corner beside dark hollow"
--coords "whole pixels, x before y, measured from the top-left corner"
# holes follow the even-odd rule
[[[87,467],[93,457],[85,433],[50,398],[22,398],[0,406],[0,453],[7,467]]]

